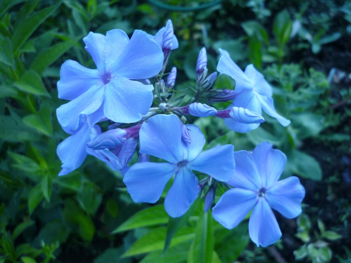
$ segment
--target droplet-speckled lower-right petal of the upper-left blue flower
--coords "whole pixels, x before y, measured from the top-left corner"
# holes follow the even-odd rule
[[[108,119],[132,123],[148,113],[153,100],[152,85],[115,77],[105,87],[104,113]]]

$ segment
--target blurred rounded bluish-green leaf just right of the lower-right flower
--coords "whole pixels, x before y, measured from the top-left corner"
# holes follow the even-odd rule
[[[293,149],[287,157],[286,168],[293,174],[301,177],[320,181],[322,179],[322,169],[319,163],[311,155]]]

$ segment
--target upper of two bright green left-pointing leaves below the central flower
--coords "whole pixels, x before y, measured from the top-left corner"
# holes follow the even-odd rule
[[[138,227],[148,227],[151,225],[164,224],[167,223],[167,221],[168,215],[165,211],[164,205],[153,205],[152,207],[145,208],[134,214],[127,221],[122,223],[117,229],[113,230],[112,234]]]

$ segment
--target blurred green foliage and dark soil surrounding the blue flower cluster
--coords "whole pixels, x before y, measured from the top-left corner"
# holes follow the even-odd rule
[[[58,177],[56,148],[67,137],[55,115],[66,103],[56,87],[62,63],[95,67],[82,41],[90,31],[155,34],[168,19],[179,40],[167,68],[178,69],[176,89],[194,87],[201,47],[210,73],[223,48],[241,68],[253,63],[264,74],[277,111],[291,120],[283,127],[264,115],[247,134],[213,117],[194,120],[208,148],[252,150],[269,141],[287,155],[282,178],[300,178],[303,213],[275,213],[283,236],[270,247],[250,241],[247,220],[233,230],[213,221],[212,239],[201,239],[200,199],[161,257],[168,222],[162,198],[153,206],[133,203],[121,174],[91,156]],[[351,2],[341,0],[1,0],[0,262],[201,262],[191,251],[204,241],[201,251],[213,250],[212,262],[350,263],[350,38]],[[234,85],[222,75],[215,87]]]

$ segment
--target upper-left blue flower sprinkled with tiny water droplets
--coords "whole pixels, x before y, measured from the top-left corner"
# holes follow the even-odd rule
[[[145,32],[135,30],[131,39],[119,29],[106,36],[90,32],[86,50],[97,69],[67,60],[57,83],[59,98],[71,100],[57,109],[61,126],[78,128],[79,116],[99,112],[114,122],[132,123],[146,114],[153,101],[153,86],[139,79],[157,75],[163,52]]]

